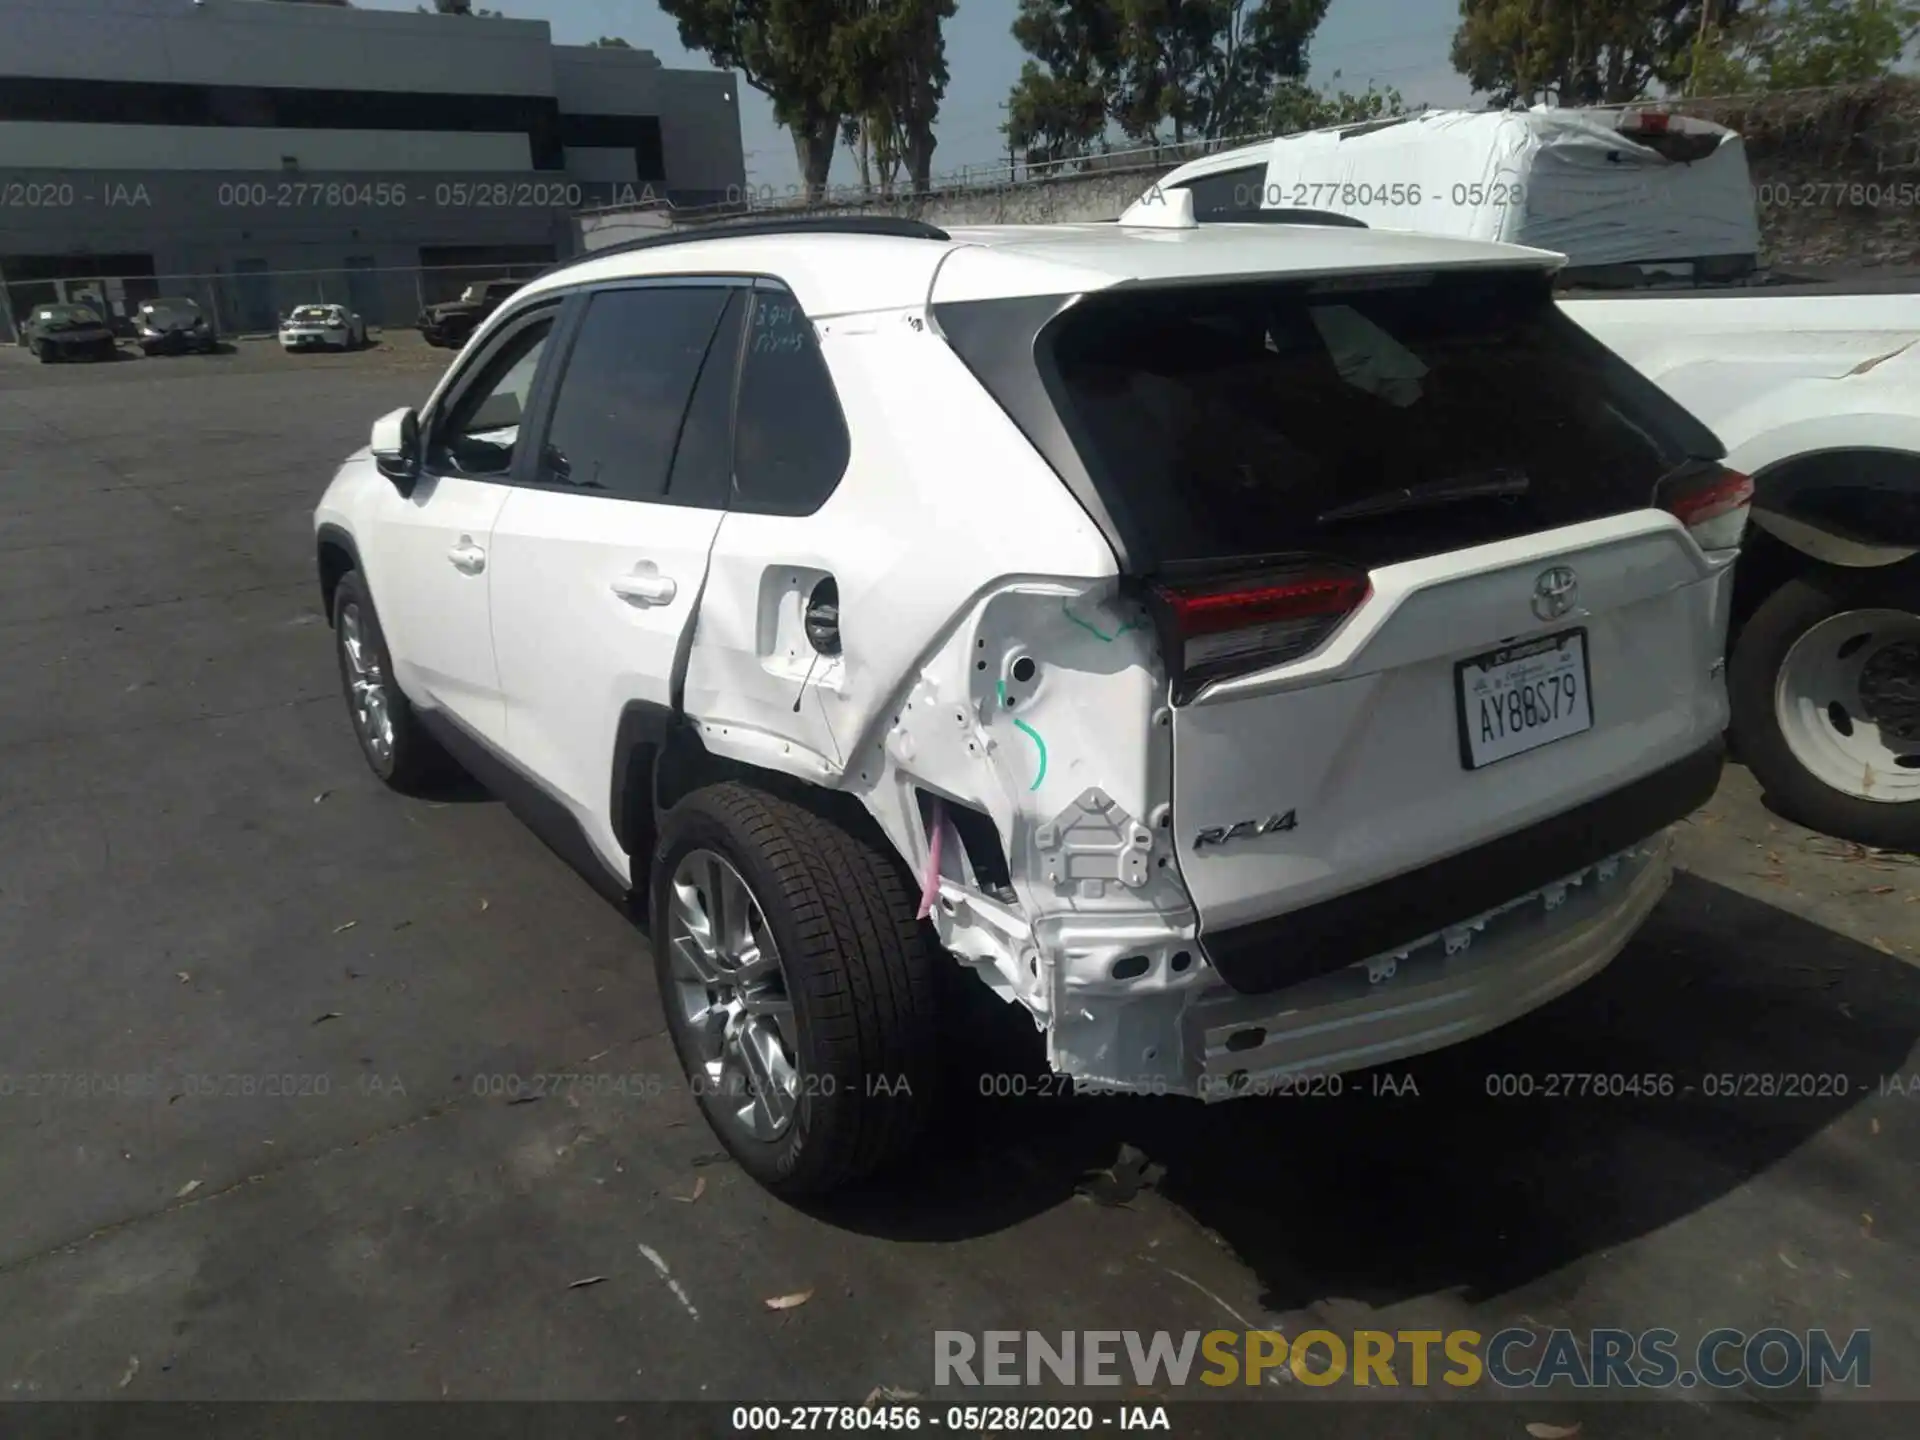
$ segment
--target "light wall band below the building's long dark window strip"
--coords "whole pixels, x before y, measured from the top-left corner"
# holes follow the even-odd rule
[[[482,131],[269,131],[219,125],[0,121],[0,169],[73,171],[524,171],[526,134]],[[632,167],[630,167],[632,169]],[[599,179],[599,177],[595,177]],[[618,177],[626,179],[626,177]]]

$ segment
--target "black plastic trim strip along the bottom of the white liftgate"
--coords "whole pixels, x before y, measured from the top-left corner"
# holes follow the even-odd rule
[[[1409,945],[1605,860],[1705,804],[1726,751],[1713,745],[1540,824],[1331,900],[1200,933],[1233,989],[1261,995]]]

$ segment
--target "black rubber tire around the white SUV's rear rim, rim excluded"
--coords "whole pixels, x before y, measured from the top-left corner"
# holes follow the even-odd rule
[[[747,881],[780,950],[795,1010],[795,1114],[758,1140],[701,1085],[699,1050],[676,996],[668,922],[674,870],[689,851],[724,856]],[[655,973],[682,1069],[707,1123],[753,1179],[797,1198],[845,1188],[906,1160],[939,1073],[935,950],[910,879],[877,829],[728,781],[660,822],[649,885]]]

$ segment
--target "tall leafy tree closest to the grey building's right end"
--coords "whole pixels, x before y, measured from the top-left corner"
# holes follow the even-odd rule
[[[660,0],[687,50],[774,102],[774,119],[793,134],[808,196],[826,192],[833,146],[847,115],[845,42],[835,42],[851,0]]]

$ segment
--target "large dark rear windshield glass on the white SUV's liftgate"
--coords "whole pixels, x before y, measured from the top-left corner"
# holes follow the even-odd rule
[[[1382,564],[1651,503],[1713,434],[1540,275],[1092,296],[1043,348],[1135,568]]]

